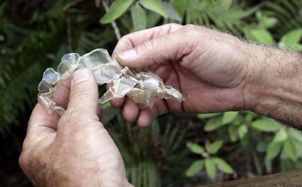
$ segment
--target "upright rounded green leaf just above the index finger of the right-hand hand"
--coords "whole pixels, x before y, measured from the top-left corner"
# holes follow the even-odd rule
[[[138,3],[132,6],[131,17],[135,31],[143,30],[147,27],[146,12]]]

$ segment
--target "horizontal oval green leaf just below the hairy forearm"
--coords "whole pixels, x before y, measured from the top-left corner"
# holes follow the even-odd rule
[[[281,125],[269,119],[260,119],[251,123],[251,127],[264,132],[275,132],[280,129]]]

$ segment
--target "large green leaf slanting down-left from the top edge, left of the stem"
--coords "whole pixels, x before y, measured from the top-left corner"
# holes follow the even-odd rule
[[[115,0],[106,14],[101,18],[101,23],[110,23],[121,16],[132,4],[133,0]]]

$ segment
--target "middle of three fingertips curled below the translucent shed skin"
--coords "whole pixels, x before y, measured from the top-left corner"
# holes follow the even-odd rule
[[[122,114],[126,122],[134,122],[138,116],[138,107],[129,97],[126,97]]]

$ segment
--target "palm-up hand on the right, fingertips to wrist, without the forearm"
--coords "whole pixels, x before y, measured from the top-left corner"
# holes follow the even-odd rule
[[[122,37],[112,57],[129,68],[151,67],[165,85],[185,100],[158,100],[139,111],[130,98],[111,100],[128,122],[146,127],[158,115],[172,112],[213,113],[246,108],[250,74],[247,44],[236,37],[195,25],[167,24]]]

